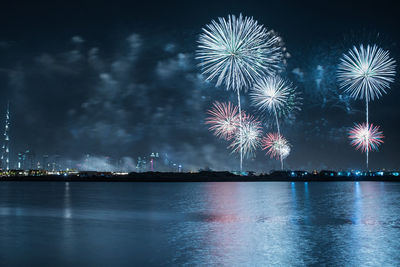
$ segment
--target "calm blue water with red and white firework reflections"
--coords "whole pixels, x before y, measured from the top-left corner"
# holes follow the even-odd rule
[[[400,184],[0,183],[0,262],[398,265]]]

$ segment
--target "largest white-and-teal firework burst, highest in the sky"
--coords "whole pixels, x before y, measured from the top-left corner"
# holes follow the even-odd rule
[[[207,80],[226,89],[247,90],[255,79],[282,68],[285,48],[273,31],[250,17],[229,15],[203,28],[196,58]]]

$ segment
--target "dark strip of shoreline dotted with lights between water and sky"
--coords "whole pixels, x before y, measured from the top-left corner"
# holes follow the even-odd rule
[[[0,181],[57,181],[57,182],[330,182],[330,181],[390,181],[400,182],[399,172],[334,172],[276,171],[255,175],[251,172],[201,171],[196,173],[142,172],[118,174],[111,172],[79,172],[59,175],[15,175],[0,177]]]

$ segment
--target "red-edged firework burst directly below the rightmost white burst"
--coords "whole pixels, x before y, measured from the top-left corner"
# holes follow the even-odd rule
[[[379,126],[373,124],[367,125],[355,124],[349,131],[349,139],[351,145],[361,152],[369,152],[378,150],[380,144],[383,143],[383,132],[379,130]]]

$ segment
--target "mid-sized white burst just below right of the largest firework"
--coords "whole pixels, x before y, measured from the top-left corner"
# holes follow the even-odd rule
[[[299,97],[293,84],[279,76],[268,76],[257,80],[250,93],[252,104],[278,116],[299,108]]]

